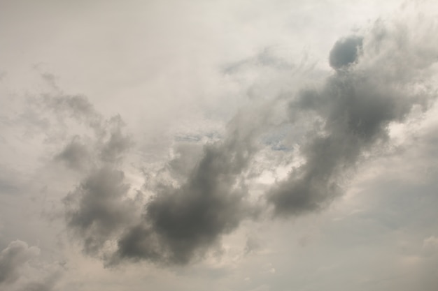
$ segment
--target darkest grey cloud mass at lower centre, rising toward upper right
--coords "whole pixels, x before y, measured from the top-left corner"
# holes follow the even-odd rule
[[[232,164],[232,149],[222,151],[220,146],[209,146],[204,155],[183,186],[164,186],[146,207],[144,223],[150,225],[146,231],[159,239],[162,248],[153,253],[160,253],[164,260],[188,262],[221,234],[234,230],[247,215],[242,203],[244,193],[232,189],[240,171],[239,165]],[[245,163],[245,157],[236,158]],[[138,228],[132,231],[137,232]],[[133,251],[129,239],[132,233],[128,232],[119,241],[120,254],[147,256],[152,252],[148,248],[153,246],[149,243],[150,234],[145,235],[143,247]]]

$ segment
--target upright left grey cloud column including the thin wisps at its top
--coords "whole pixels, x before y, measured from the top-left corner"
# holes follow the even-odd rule
[[[136,213],[134,200],[127,195],[125,173],[118,170],[132,146],[131,138],[124,133],[120,116],[104,119],[85,96],[45,96],[45,104],[61,121],[69,118],[94,131],[94,135],[74,135],[55,159],[84,174],[62,201],[64,217],[83,252],[101,256]]]

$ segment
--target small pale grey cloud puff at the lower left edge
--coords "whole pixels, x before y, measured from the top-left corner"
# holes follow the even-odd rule
[[[21,276],[24,264],[39,254],[39,248],[28,246],[24,241],[12,241],[0,253],[0,285],[11,284]]]

